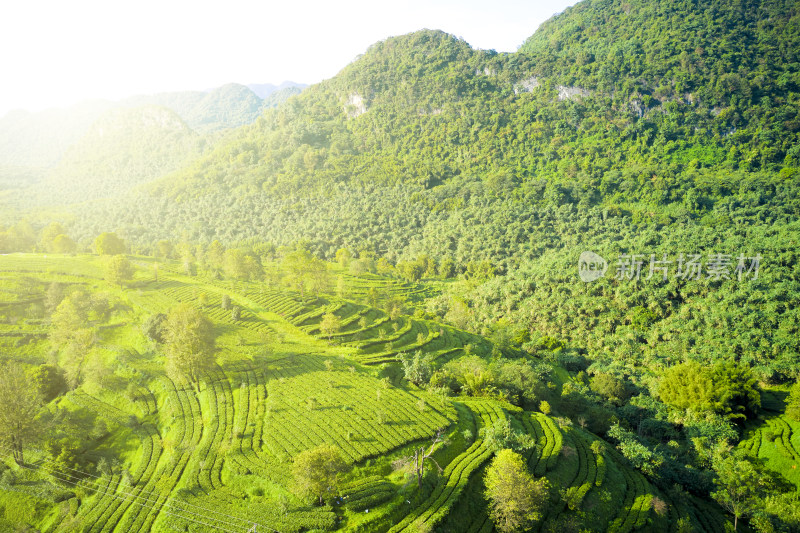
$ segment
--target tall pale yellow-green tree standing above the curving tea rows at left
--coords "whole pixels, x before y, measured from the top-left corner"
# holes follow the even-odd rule
[[[202,372],[214,362],[214,326],[189,304],[174,307],[164,327],[167,371],[199,385]]]

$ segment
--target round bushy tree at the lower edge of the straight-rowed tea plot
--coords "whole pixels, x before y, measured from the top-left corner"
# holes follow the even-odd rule
[[[326,495],[338,492],[339,475],[346,469],[347,463],[335,446],[321,444],[305,450],[295,457],[292,466],[295,489],[303,497],[318,498],[321,505]]]

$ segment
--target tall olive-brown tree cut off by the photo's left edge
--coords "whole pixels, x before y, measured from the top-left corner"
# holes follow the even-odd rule
[[[0,442],[11,449],[17,464],[25,463],[25,445],[39,434],[42,406],[38,387],[31,387],[25,370],[8,362],[0,368]]]

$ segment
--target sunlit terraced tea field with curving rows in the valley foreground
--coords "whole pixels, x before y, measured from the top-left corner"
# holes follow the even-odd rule
[[[5,359],[67,363],[49,337],[54,283],[107,303],[87,324],[94,344],[82,379],[46,407],[71,420],[77,433],[64,438],[79,443],[74,455],[53,455],[46,438],[28,447],[23,466],[0,450],[2,530],[488,532],[481,487],[493,452],[481,430],[498,420],[533,437],[529,469],[553,487],[537,530],[587,512],[618,532],[668,531],[682,516],[697,531],[721,524],[716,511],[682,502],[670,504],[669,518],[657,516],[652,499],[668,498],[609,445],[595,453],[596,437],[582,430],[495,399],[447,398],[379,377],[404,352],[430,354],[437,366],[468,351],[488,356],[491,345],[479,336],[331,294],[190,277],[176,264],[161,265],[156,281],[152,261],[134,261],[133,281],[119,287],[104,281],[93,256],[0,257]],[[381,284],[393,294],[417,290],[371,275],[347,283],[351,293]],[[213,323],[216,363],[199,385],[168,374],[162,349],[142,329],[180,303]],[[322,332],[326,314],[339,319],[337,331]],[[770,424],[776,437],[764,449],[796,453],[795,428]],[[418,488],[392,463],[440,431],[446,443],[433,457],[442,472],[431,468]],[[323,443],[351,470],[339,497],[314,505],[295,494],[292,462]]]

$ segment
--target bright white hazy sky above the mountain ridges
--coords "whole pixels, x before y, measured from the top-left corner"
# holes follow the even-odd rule
[[[315,83],[367,47],[422,28],[515,51],[577,0],[9,0],[0,7],[0,116],[87,98]]]

